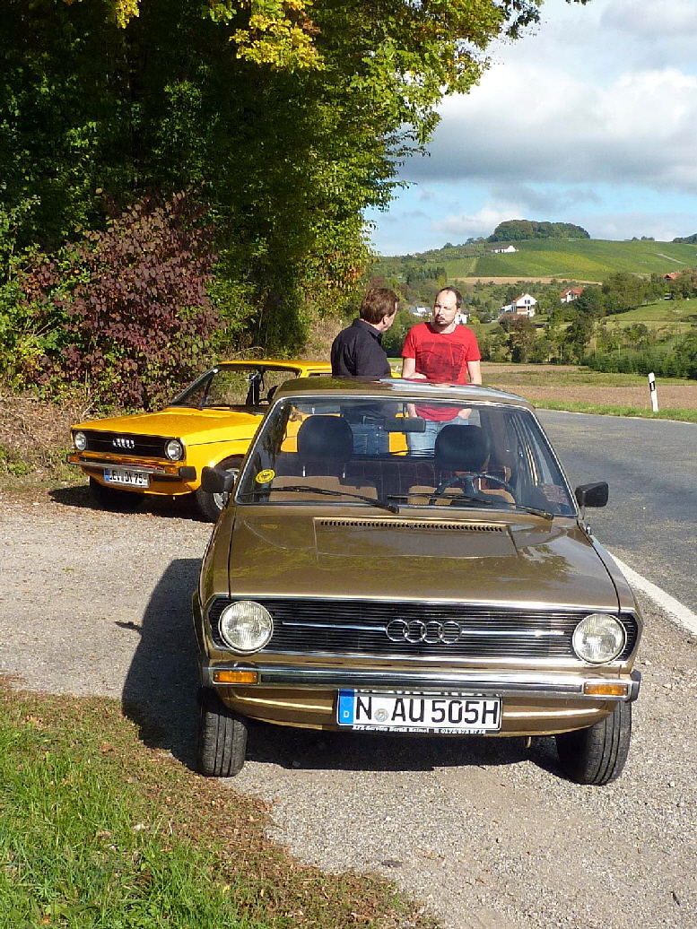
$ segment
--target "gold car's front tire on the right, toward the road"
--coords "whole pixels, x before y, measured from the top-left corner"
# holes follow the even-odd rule
[[[578,784],[609,784],[622,773],[631,735],[632,704],[618,703],[594,726],[556,737],[559,764]]]

